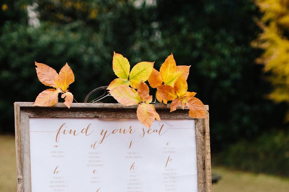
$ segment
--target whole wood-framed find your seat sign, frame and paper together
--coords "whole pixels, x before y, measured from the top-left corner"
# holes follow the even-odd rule
[[[18,192],[210,192],[206,119],[169,113],[151,129],[137,106],[73,103],[68,109],[16,102]]]

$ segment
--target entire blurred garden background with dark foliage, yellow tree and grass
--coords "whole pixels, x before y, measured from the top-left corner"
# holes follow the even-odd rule
[[[46,89],[34,61],[67,62],[78,102],[131,66],[172,52],[210,106],[213,191],[289,191],[289,0],[2,0],[0,191],[16,191],[15,101]],[[154,92],[151,90],[151,95]],[[99,95],[98,95],[99,96]],[[60,102],[63,102],[60,100]],[[106,102],[113,102],[107,100]]]

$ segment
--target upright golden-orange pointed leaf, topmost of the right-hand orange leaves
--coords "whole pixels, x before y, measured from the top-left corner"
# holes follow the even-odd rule
[[[165,62],[160,67],[160,76],[162,77],[163,82],[166,83],[175,76],[175,73],[176,61],[174,59],[174,56],[171,54],[166,58]]]

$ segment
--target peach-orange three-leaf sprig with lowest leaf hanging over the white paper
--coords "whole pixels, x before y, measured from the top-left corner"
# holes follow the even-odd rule
[[[138,85],[137,91],[126,85],[119,85],[109,92],[113,98],[125,106],[141,103],[137,108],[137,117],[144,126],[150,128],[154,119],[160,121],[160,116],[156,109],[149,104],[152,101],[152,96],[149,95],[148,85],[142,80]]]

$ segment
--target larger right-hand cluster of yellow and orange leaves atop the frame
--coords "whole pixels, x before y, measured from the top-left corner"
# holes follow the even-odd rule
[[[187,79],[190,66],[176,66],[172,54],[162,64],[160,72],[153,68],[153,62],[147,61],[136,64],[129,72],[128,59],[115,52],[112,63],[113,71],[119,78],[114,79],[107,89],[119,103],[125,106],[140,103],[137,117],[146,127],[150,128],[154,119],[160,121],[160,116],[154,106],[150,104],[152,96],[149,95],[146,80],[152,88],[157,88],[156,98],[160,103],[167,104],[168,101],[172,101],[171,112],[176,110],[178,106],[182,106],[183,109],[188,107],[190,109],[189,116],[205,118],[204,104],[194,97],[195,92],[188,92]]]

